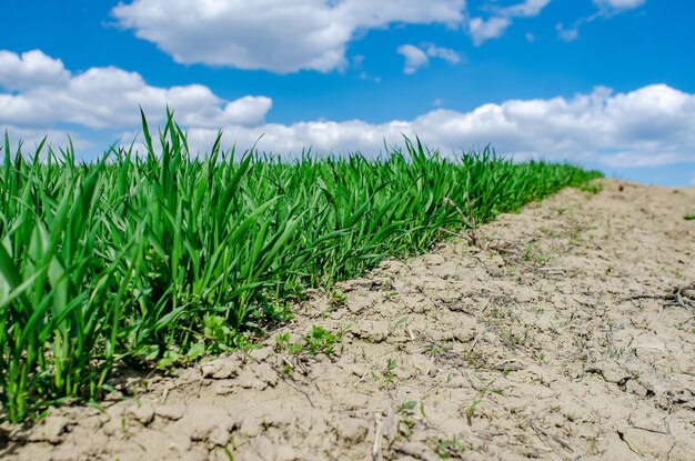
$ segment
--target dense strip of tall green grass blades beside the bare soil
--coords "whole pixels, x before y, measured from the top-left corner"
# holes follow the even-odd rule
[[[243,345],[304,289],[465,228],[447,200],[482,223],[598,176],[487,149],[452,161],[409,140],[381,161],[286,162],[224,152],[218,136],[197,157],[171,113],[159,139],[144,114],[142,128],[144,156],[112,148],[91,163],[71,144],[0,147],[0,419],[99,399],[115,367]],[[325,351],[322,334],[306,347]]]

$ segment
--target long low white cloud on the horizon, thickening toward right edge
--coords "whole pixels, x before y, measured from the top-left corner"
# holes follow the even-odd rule
[[[313,151],[376,154],[402,134],[420,139],[443,154],[492,143],[517,159],[597,162],[608,167],[653,167],[695,161],[695,94],[665,84],[626,93],[596,88],[573,98],[510,100],[462,112],[436,109],[413,120],[367,123],[308,121],[224,128],[226,146],[256,144],[280,154]],[[191,146],[210,148],[216,130],[191,128]]]

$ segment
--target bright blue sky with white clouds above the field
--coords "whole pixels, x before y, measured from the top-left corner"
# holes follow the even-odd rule
[[[695,2],[2,0],[0,130],[79,158],[167,107],[204,153],[381,156],[417,136],[695,184]],[[137,143],[137,147],[141,144]]]

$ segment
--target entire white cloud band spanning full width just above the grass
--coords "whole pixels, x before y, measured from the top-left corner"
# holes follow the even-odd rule
[[[23,69],[23,59],[7,62]],[[57,67],[49,64],[47,61],[43,66],[43,73],[32,74],[33,81],[41,83],[0,92],[0,130],[9,129],[14,140],[38,142],[48,133],[53,144],[63,146],[66,138],[58,127],[71,124],[72,132],[82,137],[73,138],[78,147],[89,146],[83,139],[92,134],[114,130],[127,132],[122,140],[128,143],[139,129],[141,103],[152,117],[152,124],[167,104],[174,109],[178,122],[190,133],[193,152],[209,149],[222,128],[226,147],[235,143],[246,149],[262,136],[258,148],[279,154],[301,152],[308,147],[318,152],[360,150],[376,154],[384,140],[401,143],[402,134],[406,134],[419,136],[444,154],[492,143],[497,152],[516,158],[543,156],[611,167],[695,161],[695,94],[665,84],[623,93],[596,88],[573,98],[508,100],[471,111],[437,108],[413,120],[383,123],[351,120],[280,124],[264,122],[272,106],[269,98],[226,101],[203,86],[158,88],[147,84],[138,73],[117,68],[89,69],[66,80],[63,72],[51,71]],[[16,70],[3,68],[3,72]]]

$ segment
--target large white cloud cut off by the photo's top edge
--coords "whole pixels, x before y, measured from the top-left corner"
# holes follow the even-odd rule
[[[133,0],[112,10],[118,23],[177,62],[329,72],[346,64],[356,31],[465,19],[465,0]]]

